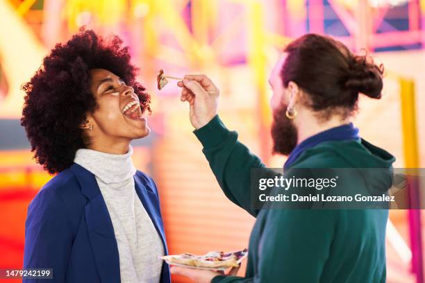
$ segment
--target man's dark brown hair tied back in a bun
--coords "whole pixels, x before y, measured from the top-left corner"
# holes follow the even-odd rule
[[[348,117],[357,110],[359,93],[381,98],[383,65],[367,53],[355,55],[342,42],[316,34],[299,37],[285,52],[283,85],[297,83],[308,95],[306,105],[324,119],[337,113]]]

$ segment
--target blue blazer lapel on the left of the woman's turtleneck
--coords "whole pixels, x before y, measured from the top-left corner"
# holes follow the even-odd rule
[[[120,282],[117,240],[96,178],[78,164],[74,163],[70,169],[81,185],[82,194],[89,200],[85,205],[85,221],[101,282]]]

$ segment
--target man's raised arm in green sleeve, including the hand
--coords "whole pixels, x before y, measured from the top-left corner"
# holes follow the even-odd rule
[[[190,123],[224,194],[256,216],[258,207],[253,209],[251,205],[251,169],[264,168],[264,164],[238,141],[238,133],[229,131],[217,116],[219,89],[205,75],[185,76],[177,85],[182,87],[181,101],[190,105]],[[276,175],[271,170],[266,174]]]

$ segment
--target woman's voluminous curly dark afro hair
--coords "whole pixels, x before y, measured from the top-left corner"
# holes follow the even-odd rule
[[[133,87],[142,111],[150,96],[135,81],[138,68],[131,64],[128,46],[117,36],[100,37],[81,28],[66,44],[56,44],[33,78],[24,83],[26,92],[21,125],[34,159],[54,174],[72,165],[78,148],[90,143],[80,128],[86,113],[98,107],[90,92],[90,69],[107,69]]]

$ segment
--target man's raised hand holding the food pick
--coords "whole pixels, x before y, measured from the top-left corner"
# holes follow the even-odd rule
[[[181,101],[189,102],[190,123],[202,128],[217,114],[219,89],[205,75],[186,75],[177,85],[183,87]]]

